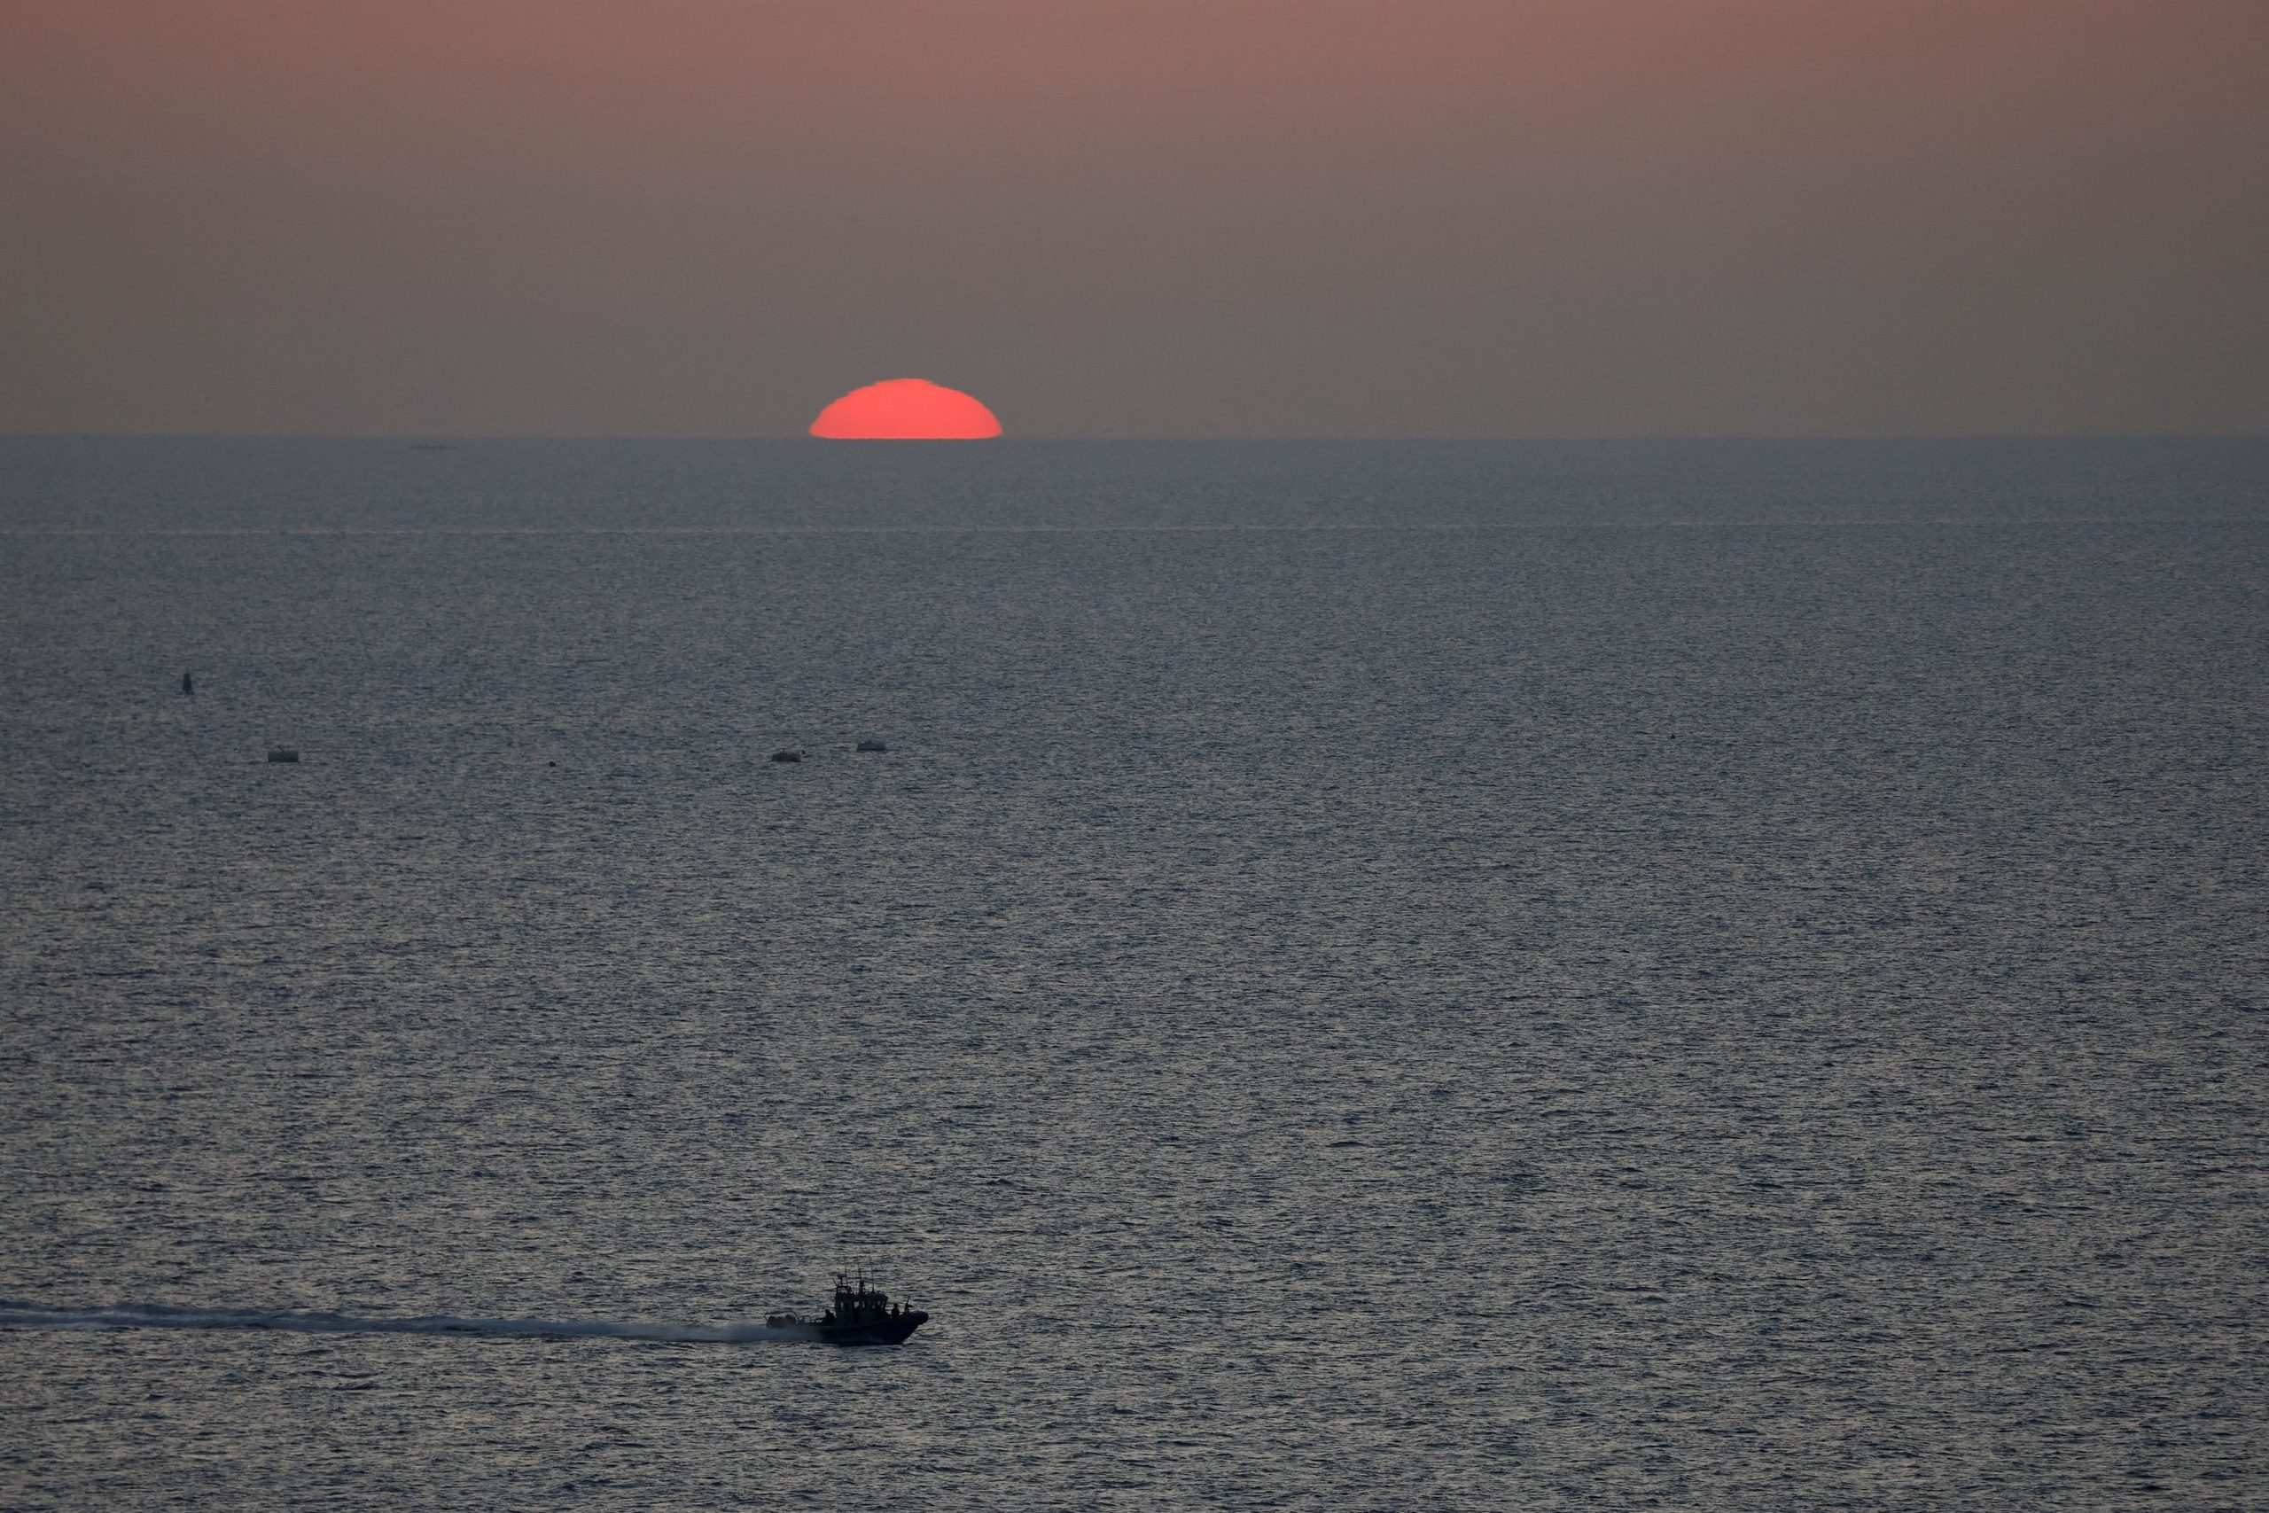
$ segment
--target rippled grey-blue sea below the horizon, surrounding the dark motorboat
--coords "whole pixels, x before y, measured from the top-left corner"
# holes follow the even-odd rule
[[[0,1506],[2262,1508],[2264,778],[2269,440],[0,440]]]

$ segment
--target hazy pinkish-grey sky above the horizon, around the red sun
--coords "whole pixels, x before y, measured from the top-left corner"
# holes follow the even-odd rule
[[[0,431],[2269,429],[2269,0],[0,0]]]

